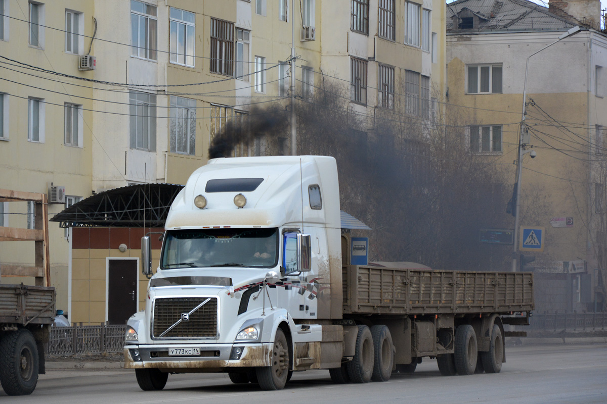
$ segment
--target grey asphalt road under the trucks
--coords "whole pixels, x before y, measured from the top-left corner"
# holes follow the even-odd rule
[[[234,385],[225,374],[171,375],[163,391],[147,392],[138,387],[134,371],[49,371],[31,396],[0,391],[0,402],[607,403],[605,344],[507,347],[506,356],[500,374],[444,377],[436,360],[424,360],[414,374],[395,374],[385,383],[334,385],[328,371],[306,371],[273,392]]]

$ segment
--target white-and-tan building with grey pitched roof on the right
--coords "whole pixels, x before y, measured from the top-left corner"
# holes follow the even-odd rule
[[[447,5],[449,102],[470,153],[514,185],[519,142],[525,150],[520,225],[544,230],[543,252],[523,251],[535,257],[540,311],[604,307],[606,64],[598,1]]]

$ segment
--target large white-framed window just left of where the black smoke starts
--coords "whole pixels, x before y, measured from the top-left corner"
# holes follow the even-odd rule
[[[171,96],[171,153],[194,156],[196,100]]]

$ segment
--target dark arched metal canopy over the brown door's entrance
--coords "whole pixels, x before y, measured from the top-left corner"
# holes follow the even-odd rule
[[[138,184],[87,197],[55,214],[59,227],[164,227],[183,185]]]

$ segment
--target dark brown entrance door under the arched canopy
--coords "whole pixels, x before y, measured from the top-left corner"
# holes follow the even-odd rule
[[[137,260],[107,261],[107,322],[126,324],[137,311]]]

